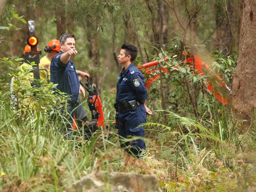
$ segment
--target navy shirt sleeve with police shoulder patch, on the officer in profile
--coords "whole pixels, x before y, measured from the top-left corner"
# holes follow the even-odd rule
[[[138,101],[144,101],[148,98],[148,93],[144,85],[144,78],[139,73],[134,73],[129,79],[130,87],[136,92]]]

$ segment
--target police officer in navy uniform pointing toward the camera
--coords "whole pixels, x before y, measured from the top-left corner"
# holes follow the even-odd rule
[[[68,138],[70,138],[72,132],[72,118],[74,118],[74,108],[78,105],[78,95],[82,92],[83,98],[85,97],[85,90],[79,84],[76,68],[70,59],[70,57],[78,54],[75,48],[75,40],[75,36],[69,33],[61,35],[59,39],[60,52],[54,56],[50,65],[50,82],[58,84],[57,89],[69,95],[67,106],[70,122],[70,125],[67,126]]]

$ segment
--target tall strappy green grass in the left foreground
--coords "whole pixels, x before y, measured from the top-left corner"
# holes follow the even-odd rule
[[[65,118],[53,121],[48,113],[31,113],[18,124],[18,112],[15,114],[11,105],[1,104],[0,171],[6,176],[0,179],[0,190],[7,190],[4,186],[14,177],[18,179],[12,183],[16,187],[25,181],[28,189],[61,190],[85,173],[91,173],[107,146],[115,146],[104,137],[103,131],[89,141],[65,140],[59,130],[67,121]],[[98,140],[102,143],[96,145]]]

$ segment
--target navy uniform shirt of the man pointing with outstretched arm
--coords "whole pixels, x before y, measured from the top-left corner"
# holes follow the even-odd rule
[[[51,61],[50,82],[58,84],[57,89],[70,95],[72,101],[76,101],[79,94],[79,80],[76,74],[76,68],[70,59],[67,64],[60,61],[62,51],[60,51]]]

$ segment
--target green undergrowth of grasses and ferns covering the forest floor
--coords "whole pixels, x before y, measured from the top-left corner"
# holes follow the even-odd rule
[[[10,76],[20,76],[15,67],[19,59],[2,62],[10,66]],[[9,84],[1,83],[1,191],[62,191],[100,170],[155,174],[163,191],[256,188],[255,129],[251,126],[247,131],[240,130],[243,121],[235,121],[228,107],[213,97],[210,112],[214,118],[160,110],[149,101],[154,115],[145,123],[147,150],[142,159],[136,159],[119,148],[113,126],[115,92],[100,94],[105,129],[90,140],[83,140],[79,130],[75,139],[65,140],[63,127],[67,120],[59,113],[66,105],[65,96],[52,92],[55,85],[38,83],[41,88],[20,83],[16,93],[10,92]],[[13,94],[19,104],[11,99]],[[31,102],[22,102],[28,98]],[[89,113],[86,102],[83,105]],[[54,114],[58,114],[57,119]]]

